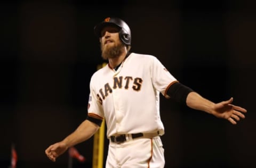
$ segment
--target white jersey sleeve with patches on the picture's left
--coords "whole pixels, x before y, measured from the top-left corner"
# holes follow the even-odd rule
[[[95,94],[93,87],[93,79],[90,81],[90,95],[88,100],[87,112],[88,116],[95,117],[96,119],[103,119],[102,100]]]

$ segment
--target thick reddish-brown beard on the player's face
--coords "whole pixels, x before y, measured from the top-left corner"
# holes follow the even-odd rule
[[[101,44],[101,56],[104,60],[108,60],[108,58],[115,58],[120,56],[124,52],[124,44],[119,42],[116,45],[112,46],[103,46]]]

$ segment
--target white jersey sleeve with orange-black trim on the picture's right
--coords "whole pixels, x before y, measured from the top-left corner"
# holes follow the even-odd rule
[[[153,60],[150,67],[151,79],[153,86],[162,93],[166,98],[170,98],[166,91],[167,89],[175,82],[178,82],[177,79],[165,68],[165,66],[153,56]]]

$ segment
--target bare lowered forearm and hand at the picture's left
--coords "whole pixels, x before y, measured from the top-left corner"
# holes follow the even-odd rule
[[[89,139],[98,129],[99,125],[89,120],[85,120],[65,139],[49,146],[45,150],[45,154],[51,159],[51,161],[55,162],[56,158],[66,152],[69,147]]]

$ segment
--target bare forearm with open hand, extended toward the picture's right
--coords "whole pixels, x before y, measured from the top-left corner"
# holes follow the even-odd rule
[[[236,124],[236,121],[239,121],[240,118],[245,118],[243,113],[246,113],[247,111],[245,108],[231,104],[232,102],[233,97],[220,103],[213,103],[194,91],[190,92],[186,99],[188,107],[213,114],[218,118],[226,119],[232,124]]]

